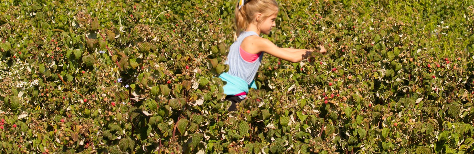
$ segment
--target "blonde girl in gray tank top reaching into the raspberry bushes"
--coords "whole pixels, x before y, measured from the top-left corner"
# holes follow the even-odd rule
[[[275,27],[278,14],[278,3],[275,0],[239,0],[235,10],[237,41],[230,46],[228,60],[230,66],[227,73],[219,77],[226,81],[223,87],[227,94],[226,100],[232,102],[228,111],[237,108],[236,103],[246,99],[249,88],[256,89],[255,74],[262,62],[263,53],[277,58],[297,63],[307,58],[313,50],[280,48],[270,40],[259,37],[260,34],[268,35]],[[320,53],[325,54],[322,45]]]

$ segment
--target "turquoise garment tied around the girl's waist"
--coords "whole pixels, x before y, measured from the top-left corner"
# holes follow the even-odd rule
[[[243,79],[236,76],[232,76],[227,72],[223,72],[222,74],[220,74],[219,78],[222,79],[222,81],[227,82],[227,84],[222,87],[224,93],[227,95],[237,95],[239,93],[242,93],[243,91],[248,94],[249,88],[257,89],[257,85],[255,85],[255,80],[253,80],[252,83],[248,85],[247,82],[245,82]]]

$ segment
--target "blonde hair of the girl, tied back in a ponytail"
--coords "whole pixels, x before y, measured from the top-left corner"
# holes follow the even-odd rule
[[[268,17],[278,11],[278,3],[275,0],[246,0],[244,6],[239,9],[238,2],[235,10],[236,34],[239,36],[242,30],[246,30],[257,13],[262,13],[262,18],[257,27]]]

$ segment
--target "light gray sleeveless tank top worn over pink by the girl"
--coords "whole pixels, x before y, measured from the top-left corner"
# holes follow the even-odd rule
[[[258,59],[255,62],[247,62],[240,56],[240,44],[247,36],[257,35],[257,33],[253,31],[243,31],[240,33],[240,36],[237,37],[237,41],[230,45],[229,54],[227,55],[227,61],[225,64],[229,65],[228,74],[232,76],[237,76],[247,82],[248,85],[252,83],[255,78],[255,74],[258,71],[258,67],[262,62],[262,58],[264,53],[262,52]]]

